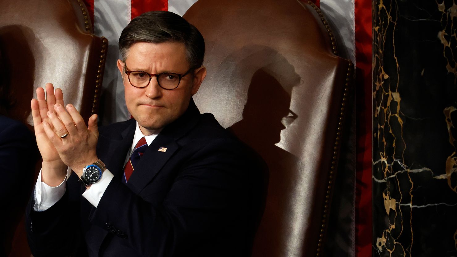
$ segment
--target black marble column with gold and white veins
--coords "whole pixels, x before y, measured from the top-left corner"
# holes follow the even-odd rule
[[[457,256],[457,4],[373,0],[373,257]]]

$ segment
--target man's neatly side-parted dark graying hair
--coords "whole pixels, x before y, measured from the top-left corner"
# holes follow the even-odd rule
[[[119,37],[119,51],[123,62],[128,57],[128,49],[137,42],[182,42],[186,47],[187,61],[191,68],[203,65],[205,41],[202,34],[175,13],[149,11],[130,21]]]

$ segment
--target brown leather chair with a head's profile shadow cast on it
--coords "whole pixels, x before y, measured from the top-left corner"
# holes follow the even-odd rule
[[[311,2],[198,0],[184,17],[207,47],[197,106],[270,169],[252,256],[322,255],[352,63]]]

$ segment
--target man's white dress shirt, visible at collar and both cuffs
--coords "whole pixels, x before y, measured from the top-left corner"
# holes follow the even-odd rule
[[[128,162],[128,159],[130,158],[130,155],[133,152],[133,149],[137,145],[138,141],[144,136],[146,139],[146,143],[148,143],[148,146],[154,141],[155,137],[159,135],[160,130],[155,131],[153,134],[149,136],[144,136],[143,132],[141,132],[138,122],[137,122],[137,127],[135,129],[135,135],[133,136],[133,142],[132,142],[132,147],[130,147],[130,150],[127,153],[127,156],[125,157],[125,164]],[[103,160],[101,160],[103,162]],[[89,165],[90,163],[88,163]],[[64,183],[69,176],[71,175],[71,169],[67,169],[67,176],[65,177],[64,181],[60,183],[60,185],[56,187],[51,187],[48,186],[46,183],[41,181],[41,170],[40,173],[38,174],[38,179],[37,183],[35,184],[35,205],[33,206],[33,209],[36,211],[43,211],[43,210],[48,210],[49,207],[53,206],[57,201],[62,198],[65,194],[65,190],[67,189],[67,184]],[[105,193],[106,188],[108,187],[108,184],[110,184],[111,180],[113,178],[113,174],[106,169],[103,172],[103,175],[101,176],[101,179],[97,181],[96,183],[90,185],[89,189],[86,189],[83,193],[83,197],[87,199],[92,205],[97,207],[98,203],[100,202],[101,197],[103,196],[103,193]]]

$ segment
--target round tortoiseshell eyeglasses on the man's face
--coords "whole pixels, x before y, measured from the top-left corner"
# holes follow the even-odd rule
[[[145,88],[149,85],[151,82],[152,77],[156,77],[157,79],[157,84],[163,89],[171,90],[175,89],[179,86],[179,83],[181,82],[181,78],[186,76],[193,70],[193,68],[190,68],[186,73],[184,74],[178,74],[178,73],[171,73],[171,72],[165,72],[165,73],[160,73],[160,74],[151,74],[147,73],[142,70],[127,70],[127,65],[125,66],[126,71],[125,73],[128,76],[128,81],[130,84],[136,88]]]

